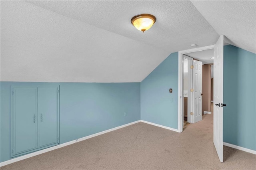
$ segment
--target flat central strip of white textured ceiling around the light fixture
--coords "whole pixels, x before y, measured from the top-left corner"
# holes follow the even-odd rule
[[[168,52],[212,45],[218,34],[190,1],[28,1],[63,16],[108,30]],[[156,23],[144,33],[130,23],[148,13]],[[166,56],[167,57],[167,56]]]

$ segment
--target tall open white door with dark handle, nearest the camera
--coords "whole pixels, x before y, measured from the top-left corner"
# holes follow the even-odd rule
[[[214,46],[213,142],[223,162],[223,42],[221,35]]]

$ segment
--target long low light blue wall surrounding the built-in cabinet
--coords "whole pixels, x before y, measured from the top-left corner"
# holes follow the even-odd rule
[[[60,144],[140,120],[140,83],[1,82],[0,85],[1,162],[10,159],[10,85],[60,85]]]

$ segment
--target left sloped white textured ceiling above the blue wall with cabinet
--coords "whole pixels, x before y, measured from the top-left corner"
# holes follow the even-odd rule
[[[140,82],[169,54],[26,2],[1,1],[1,81]]]

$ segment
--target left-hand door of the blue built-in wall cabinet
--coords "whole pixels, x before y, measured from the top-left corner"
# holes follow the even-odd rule
[[[37,148],[37,88],[13,88],[13,154]]]

